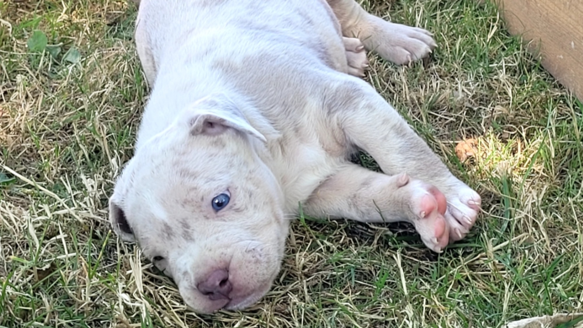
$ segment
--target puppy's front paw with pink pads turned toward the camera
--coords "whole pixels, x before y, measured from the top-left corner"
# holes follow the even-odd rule
[[[408,175],[398,176],[398,187],[406,191],[403,198],[408,203],[408,219],[423,243],[434,252],[440,253],[449,243],[449,225],[444,218],[447,201],[444,194],[431,184],[410,179]]]

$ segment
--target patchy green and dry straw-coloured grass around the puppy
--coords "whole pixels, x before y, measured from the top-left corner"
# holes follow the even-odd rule
[[[431,60],[370,55],[367,80],[482,194],[468,238],[437,255],[405,224],[301,218],[261,302],[201,316],[107,222],[148,93],[135,6],[0,1],[0,326],[500,327],[582,312],[583,104],[476,3],[363,2],[435,33]]]

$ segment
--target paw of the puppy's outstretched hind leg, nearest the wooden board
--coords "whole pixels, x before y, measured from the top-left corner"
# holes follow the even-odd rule
[[[412,27],[373,18],[373,34],[364,40],[370,48],[385,60],[398,65],[427,57],[437,47],[430,32],[419,27]]]

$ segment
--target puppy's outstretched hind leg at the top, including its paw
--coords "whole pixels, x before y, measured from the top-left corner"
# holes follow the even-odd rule
[[[427,57],[437,47],[432,34],[418,27],[387,22],[370,15],[354,0],[327,0],[345,37],[359,38],[368,51],[375,51],[395,64],[409,64]]]

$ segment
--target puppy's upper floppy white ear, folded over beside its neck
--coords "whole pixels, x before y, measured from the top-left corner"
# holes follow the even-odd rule
[[[251,126],[237,105],[223,94],[215,93],[199,100],[189,113],[188,124],[192,135],[218,135],[233,128],[263,142],[267,141],[261,132]]]

